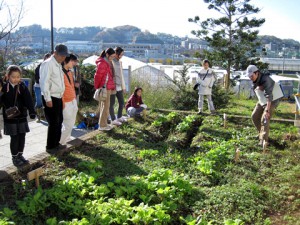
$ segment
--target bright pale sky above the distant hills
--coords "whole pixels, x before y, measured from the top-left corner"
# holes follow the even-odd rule
[[[21,0],[4,1],[16,6]],[[25,15],[19,26],[40,24],[50,28],[50,0],[23,1]],[[253,16],[266,19],[259,34],[300,41],[299,0],[251,0],[250,3],[261,9]],[[203,0],[53,0],[53,5],[56,28],[133,25],[154,34],[180,37],[194,37],[191,31],[199,28],[188,22],[188,18],[219,15],[208,10]]]

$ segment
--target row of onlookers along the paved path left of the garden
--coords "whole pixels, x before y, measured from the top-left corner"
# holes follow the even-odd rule
[[[124,108],[125,82],[120,59],[124,50],[120,47],[107,49],[97,59],[94,76],[95,88],[106,86],[107,98],[99,103],[99,129],[110,130],[112,125],[120,126],[126,121],[122,117]],[[36,103],[28,87],[21,81],[22,69],[11,65],[3,79],[0,79],[0,106],[3,108],[1,119],[4,122],[4,134],[9,135],[12,162],[16,167],[28,164],[24,158],[26,133],[30,131],[27,117],[38,121],[44,114],[48,122],[46,151],[56,153],[66,148],[75,125],[80,94],[78,57],[69,53],[67,46],[58,44],[53,54],[46,54],[44,61],[35,70],[34,92]],[[146,105],[142,101],[142,88],[138,87],[126,102],[126,111],[133,117],[145,113]],[[115,99],[119,108],[114,113]],[[108,125],[109,116],[111,125]],[[2,126],[0,121],[0,126]],[[0,127],[0,138],[2,127]]]

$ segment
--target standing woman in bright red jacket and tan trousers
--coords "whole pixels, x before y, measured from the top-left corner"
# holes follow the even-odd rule
[[[99,130],[111,130],[112,127],[107,124],[109,117],[109,106],[110,106],[110,94],[115,90],[115,83],[113,79],[113,73],[111,68],[111,61],[115,57],[115,50],[108,48],[102,51],[100,57],[96,60],[96,73],[94,76],[94,87],[95,89],[106,86],[107,98],[104,101],[99,102]]]

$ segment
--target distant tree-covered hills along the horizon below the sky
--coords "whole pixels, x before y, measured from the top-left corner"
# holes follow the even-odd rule
[[[17,37],[23,37],[32,42],[39,42],[41,39],[50,38],[50,30],[42,28],[41,25],[31,25],[20,27],[15,33]],[[105,28],[101,26],[92,27],[74,27],[74,28],[58,28],[54,29],[54,37],[56,42],[65,42],[67,40],[78,41],[103,41],[106,43],[157,43],[157,44],[173,44],[185,40],[186,37],[175,37],[171,34],[157,33],[152,34],[149,31],[142,31],[140,28],[124,25],[114,28]],[[272,43],[273,45],[287,48],[300,49],[300,43],[292,39],[280,39],[275,36],[261,35],[259,36],[262,45]],[[191,41],[197,42],[196,37]]]

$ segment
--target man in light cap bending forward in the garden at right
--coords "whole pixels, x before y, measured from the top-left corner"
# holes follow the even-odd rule
[[[279,104],[280,95],[274,96],[275,81],[269,73],[261,73],[255,65],[249,65],[247,75],[252,80],[253,90],[259,99],[251,117],[259,133],[259,145],[262,145],[263,141],[269,141],[270,119]]]

